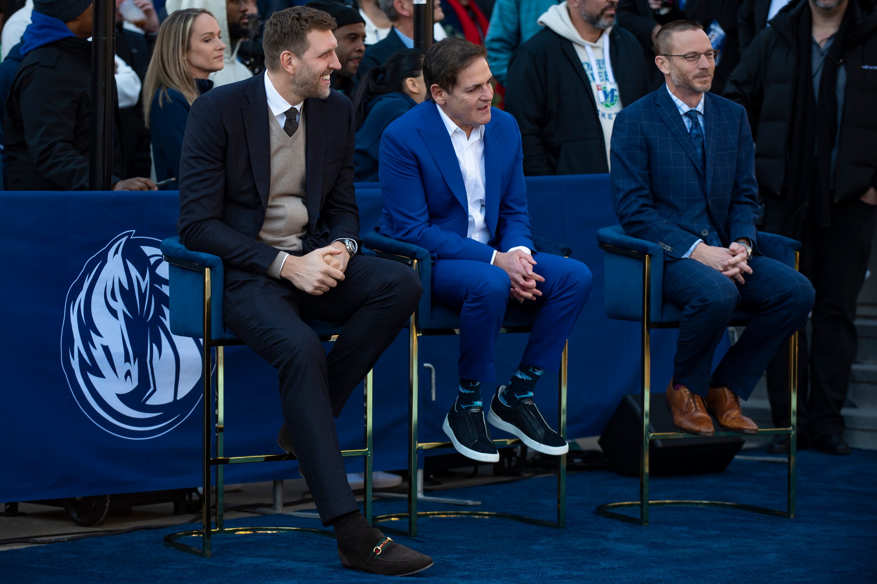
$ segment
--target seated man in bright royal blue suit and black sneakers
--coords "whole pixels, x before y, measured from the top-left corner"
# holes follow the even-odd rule
[[[533,245],[521,134],[512,116],[490,107],[486,54],[462,39],[442,40],[426,53],[427,101],[381,138],[381,234],[430,251],[432,298],[460,311],[460,384],[443,427],[460,454],[495,462],[481,383],[496,381],[494,348],[509,299],[538,314],[488,419],[538,452],[564,454],[567,441],[545,423],[533,389],[545,369],[559,368],[591,273]]]

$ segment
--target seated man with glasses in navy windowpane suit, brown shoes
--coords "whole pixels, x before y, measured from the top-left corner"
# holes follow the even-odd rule
[[[718,51],[702,26],[664,26],[655,53],[667,83],[617,116],[610,174],[618,221],[663,248],[664,298],[682,309],[667,405],[683,432],[714,433],[712,414],[723,430],[758,433],[739,399],[807,319],[813,286],[756,251],[752,133],[743,107],[708,93]],[[737,306],[752,319],[710,376]]]

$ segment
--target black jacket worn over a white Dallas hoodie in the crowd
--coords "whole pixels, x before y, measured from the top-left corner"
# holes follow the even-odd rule
[[[637,39],[610,33],[610,62],[624,106],[649,93]],[[594,91],[572,41],[549,28],[517,49],[509,63],[505,110],[524,146],[524,174],[609,172]]]

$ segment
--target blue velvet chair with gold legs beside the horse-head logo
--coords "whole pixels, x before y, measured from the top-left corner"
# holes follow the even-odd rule
[[[164,543],[183,552],[203,557],[210,556],[210,537],[216,535],[239,535],[248,533],[274,533],[277,531],[309,531],[334,537],[332,531],[304,527],[234,527],[223,525],[223,468],[226,464],[267,461],[294,461],[294,454],[261,454],[251,456],[225,456],[223,433],[225,432],[225,359],[223,349],[244,344],[225,327],[223,319],[223,285],[225,282],[222,260],[207,253],[187,250],[179,237],[161,242],[161,253],[168,263],[170,280],[170,330],[173,334],[202,339],[203,350],[203,527],[196,531],[179,531],[165,536]],[[321,341],[335,341],[343,323],[311,321],[308,323]],[[213,396],[213,349],[216,349],[216,417],[212,407]],[[372,515],[372,372],[364,381],[365,447],[345,450],[342,456],[362,456],[364,459],[364,501],[367,521]],[[216,457],[212,456],[211,429],[216,428]],[[210,469],[216,467],[217,510],[216,528],[210,525]],[[200,549],[178,541],[181,538],[201,536]]]

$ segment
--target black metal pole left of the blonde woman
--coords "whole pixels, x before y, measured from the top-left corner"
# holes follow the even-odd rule
[[[112,188],[112,124],[116,75],[116,3],[95,0],[91,28],[91,165],[89,188]]]

